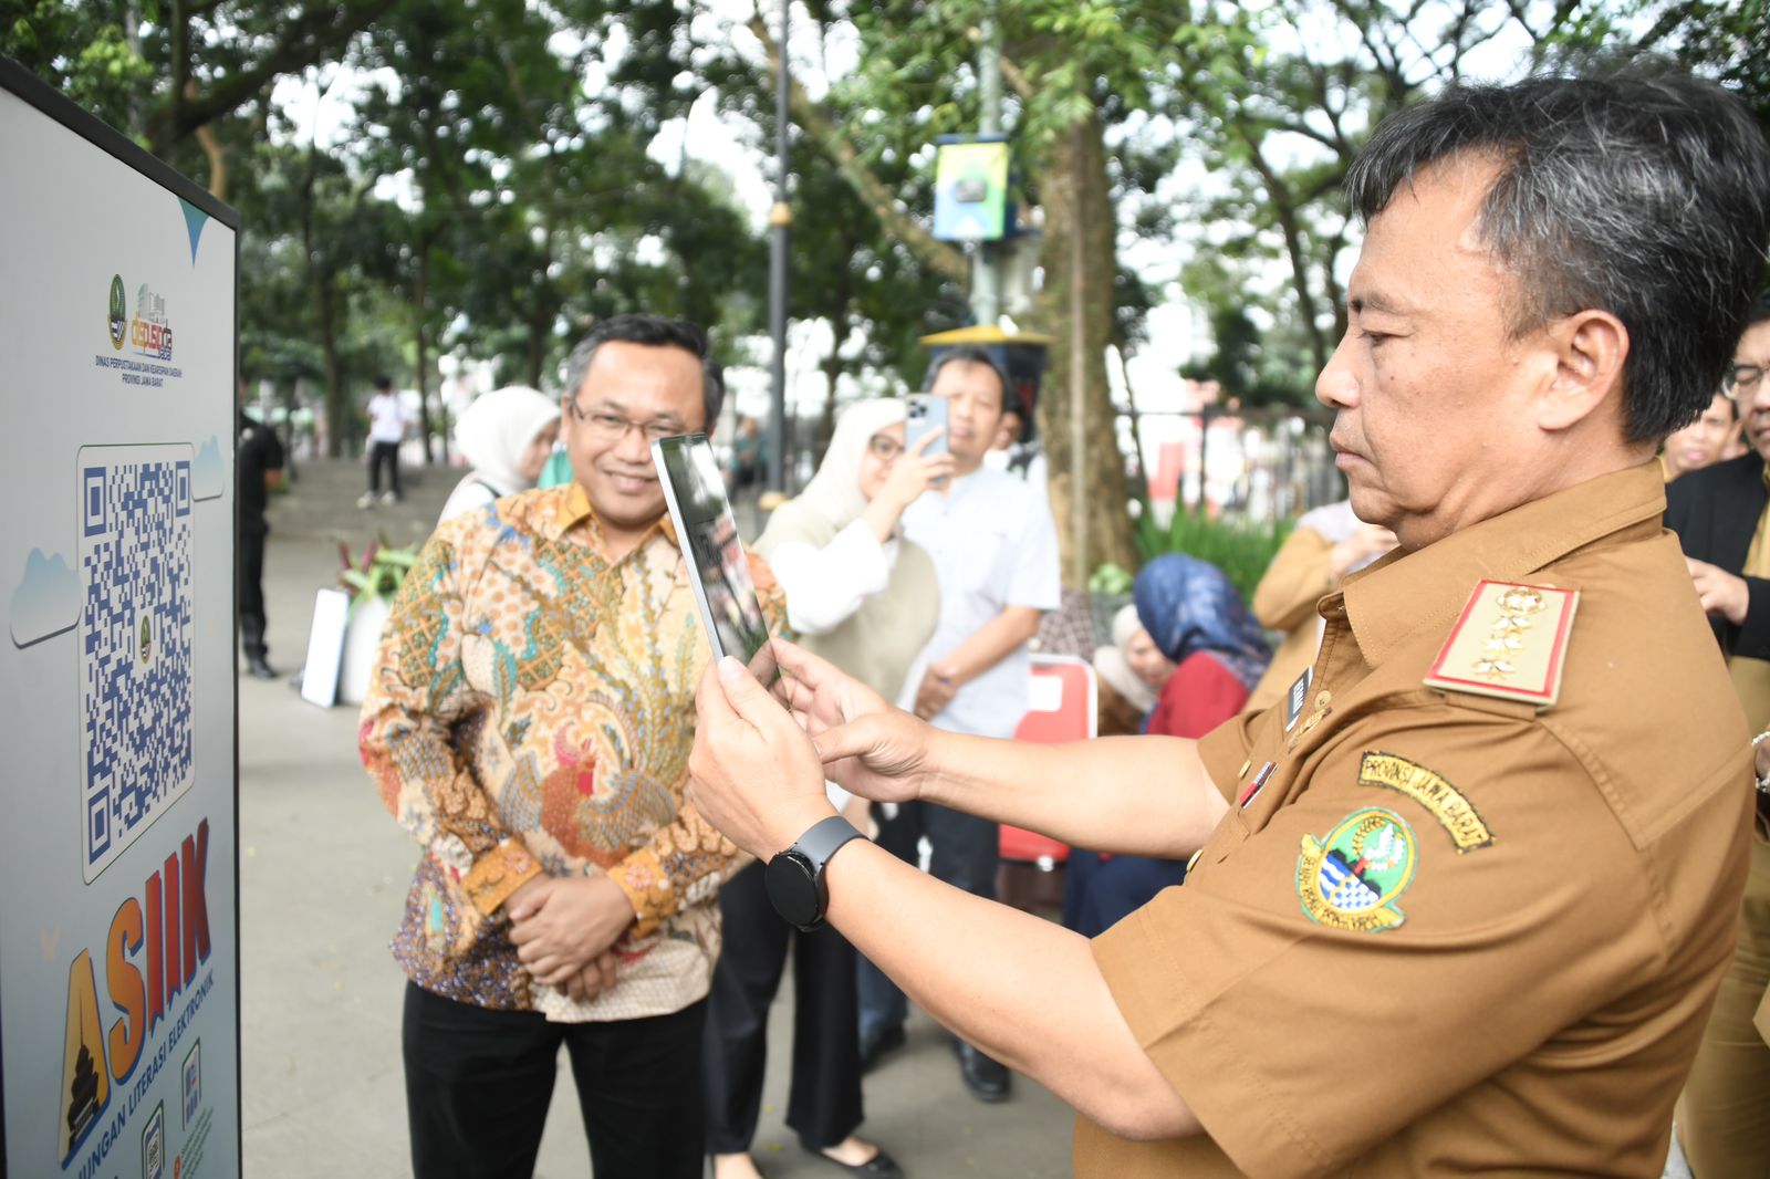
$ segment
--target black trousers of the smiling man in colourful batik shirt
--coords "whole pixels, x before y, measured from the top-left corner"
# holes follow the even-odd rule
[[[529,1179],[559,1044],[596,1179],[701,1179],[706,1002],[612,1023],[549,1023],[405,986],[405,1110],[416,1179]]]

